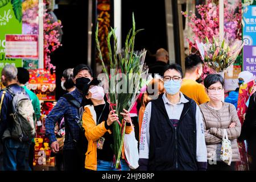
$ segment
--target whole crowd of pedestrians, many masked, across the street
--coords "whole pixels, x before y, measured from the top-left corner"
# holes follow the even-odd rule
[[[225,100],[231,103],[224,101],[224,78],[210,74],[201,84],[203,61],[200,56],[185,58],[184,74],[179,64],[169,64],[166,50],[159,49],[156,60],[150,65],[149,73],[161,77],[154,77],[144,87],[138,105],[130,113],[125,109],[121,113],[122,121],[126,121],[125,133],[130,134],[134,129],[139,142],[137,170],[234,171],[236,162],[241,160],[238,141],[243,140],[247,141],[249,169],[255,170],[256,93],[250,97],[241,126],[236,109],[238,96],[232,98],[232,93]],[[244,82],[242,77],[239,86]],[[32,169],[34,128],[29,127],[31,134],[22,133],[14,117],[15,111],[20,110],[18,107],[32,107],[33,122],[40,119],[39,100],[26,88],[28,80],[29,73],[24,68],[17,69],[9,64],[2,70],[1,81],[6,88],[0,92],[3,148],[0,163],[6,171]],[[58,169],[130,170],[124,148],[120,168],[115,168],[113,122],[118,121],[118,115],[110,109],[102,83],[94,77],[92,69],[85,64],[66,69],[61,77],[61,88],[67,93],[60,97],[46,118],[46,136]],[[19,104],[14,105],[14,102]],[[63,147],[56,136],[56,127],[65,130]],[[20,134],[27,138],[16,139]]]

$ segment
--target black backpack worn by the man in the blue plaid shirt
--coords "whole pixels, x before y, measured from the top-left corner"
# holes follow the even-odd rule
[[[81,106],[81,104],[69,93],[65,94],[63,96],[68,102],[69,104],[75,106],[78,110],[79,110],[79,120],[77,120],[77,125],[79,125],[80,130],[79,130],[79,139],[76,140],[73,137],[72,131],[70,129],[70,126],[68,124],[68,122],[65,121],[65,126],[69,129],[70,133],[71,133],[71,137],[73,142],[75,143],[77,152],[79,152],[79,154],[85,158],[85,153],[87,151],[88,148],[88,140],[85,137],[85,130],[82,127],[82,114],[84,113],[84,107]]]

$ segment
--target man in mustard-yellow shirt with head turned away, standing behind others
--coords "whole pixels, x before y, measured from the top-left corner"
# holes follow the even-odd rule
[[[185,58],[185,77],[180,92],[196,101],[197,105],[209,101],[204,85],[200,84],[203,73],[203,61],[199,55],[189,55]]]

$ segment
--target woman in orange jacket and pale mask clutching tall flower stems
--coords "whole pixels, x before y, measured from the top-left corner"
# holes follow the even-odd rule
[[[89,92],[85,98],[91,102],[84,107],[82,115],[82,127],[85,137],[88,139],[88,150],[85,158],[85,168],[92,171],[118,171],[114,167],[114,152],[112,145],[113,122],[117,121],[118,115],[109,109],[109,103],[104,100],[104,89],[98,86],[99,81],[93,79],[90,83]],[[115,111],[115,110],[114,110]],[[126,134],[132,131],[131,118],[127,110],[121,113],[126,123]],[[121,170],[129,170],[125,160],[121,160]]]

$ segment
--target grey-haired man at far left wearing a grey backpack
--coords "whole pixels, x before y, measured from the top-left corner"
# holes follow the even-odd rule
[[[7,64],[3,67],[1,81],[7,90],[12,93],[23,92],[17,84],[17,68],[12,64]],[[28,97],[28,96],[27,96]],[[20,142],[12,138],[10,130],[13,129],[13,96],[6,90],[0,91],[0,139],[3,143],[3,170],[16,171],[26,170],[28,164],[26,155],[28,154],[30,142]]]

